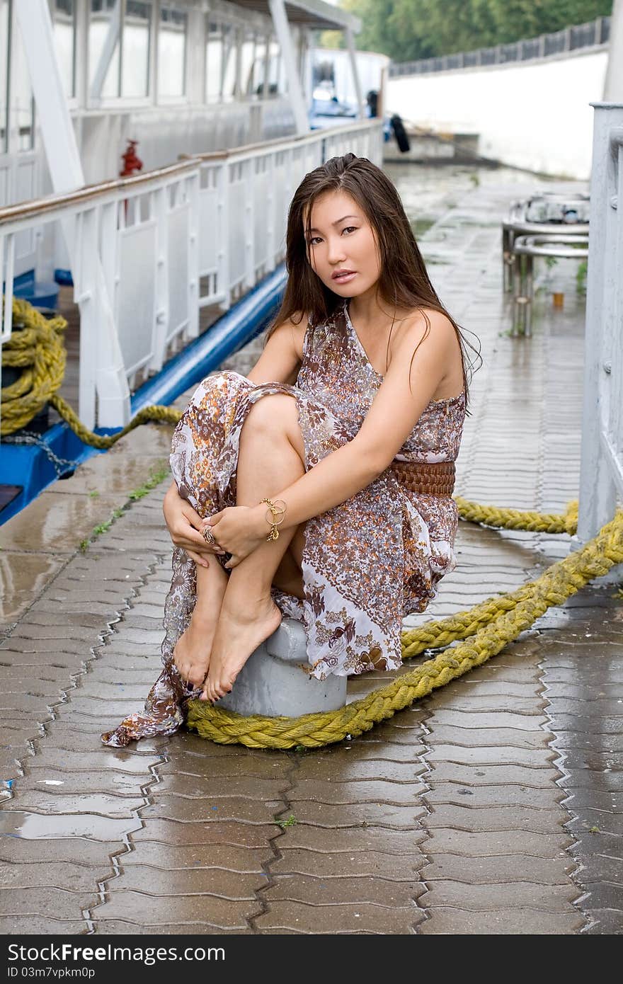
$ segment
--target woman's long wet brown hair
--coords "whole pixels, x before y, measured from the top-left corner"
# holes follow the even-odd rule
[[[468,380],[473,363],[467,354],[471,348],[480,359],[479,350],[467,341],[463,331],[441,303],[426,271],[398,191],[388,176],[367,157],[344,154],[332,157],[305,175],[290,203],[285,234],[285,269],[287,281],[280,309],[267,338],[284,322],[298,325],[307,317],[312,325],[327,321],[343,303],[313,270],[307,242],[310,237],[312,206],[326,192],[344,191],[357,203],[375,231],[380,252],[381,275],[377,288],[380,297],[397,309],[422,310],[426,331],[415,351],[430,332],[430,320],[424,308],[444,314],[452,323],[463,361],[463,380],[468,400]],[[392,329],[394,321],[392,321]],[[392,334],[390,329],[390,338]],[[413,352],[413,355],[415,354]],[[389,339],[388,339],[389,357]],[[480,359],[480,362],[482,360]],[[412,363],[412,357],[411,357]],[[409,365],[410,378],[410,365]]]

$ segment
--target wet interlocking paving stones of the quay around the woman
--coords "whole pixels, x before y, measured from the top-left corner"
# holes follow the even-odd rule
[[[499,223],[533,183],[493,178],[422,238],[442,299],[482,343],[457,491],[561,511],[578,490],[582,306],[568,293],[553,312],[543,296],[533,338],[505,334]],[[227,366],[248,371],[259,345]],[[169,440],[164,426],[134,432],[0,528],[0,931],[620,934],[612,586],[580,592],[484,666],[334,747],[254,751],[186,732],[100,745],[158,669],[167,479],[128,493]],[[462,523],[457,570],[408,624],[513,589],[571,545]],[[350,681],[349,699],[380,682]]]

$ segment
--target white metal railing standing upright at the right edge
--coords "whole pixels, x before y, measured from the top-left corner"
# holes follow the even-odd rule
[[[578,536],[623,500],[623,104],[593,103],[591,242]]]

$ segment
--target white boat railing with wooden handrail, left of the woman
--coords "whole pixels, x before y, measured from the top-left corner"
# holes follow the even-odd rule
[[[197,336],[200,307],[226,310],[282,262],[303,175],[348,151],[380,164],[382,145],[381,121],[359,121],[0,209],[1,338],[14,330],[16,247],[59,223],[80,307],[79,415],[121,426],[128,384],[160,369],[176,339]]]

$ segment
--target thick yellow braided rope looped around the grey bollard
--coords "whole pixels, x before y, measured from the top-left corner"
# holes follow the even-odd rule
[[[477,512],[475,505],[473,509]],[[559,519],[563,520],[562,517]],[[356,737],[435,688],[480,666],[517,639],[547,608],[562,604],[593,578],[601,577],[614,564],[622,562],[623,510],[617,512],[584,547],[552,564],[539,578],[524,584],[518,591],[488,598],[469,612],[424,627],[433,635],[437,646],[442,635],[448,640],[465,638],[469,624],[479,626],[467,641],[446,649],[434,659],[427,659],[360,701],[338,710],[300,717],[242,717],[204,701],[193,701],[189,705],[187,724],[202,737],[219,744],[238,743],[249,748],[287,749],[296,745],[319,748],[342,741],[346,735]],[[453,635],[453,622],[458,623],[456,635]],[[443,627],[438,637],[435,637],[436,627]],[[425,640],[414,638],[418,632],[421,630],[405,634],[407,650],[415,646],[408,655],[426,647]]]

